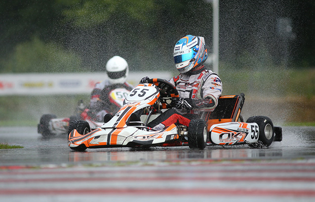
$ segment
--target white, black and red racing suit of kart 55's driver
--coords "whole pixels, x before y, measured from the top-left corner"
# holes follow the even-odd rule
[[[169,81],[176,87],[179,97],[184,98],[191,107],[168,109],[147,125],[155,130],[161,130],[173,123],[189,126],[191,119],[200,118],[200,111],[213,111],[222,93],[221,79],[204,66],[174,76]]]

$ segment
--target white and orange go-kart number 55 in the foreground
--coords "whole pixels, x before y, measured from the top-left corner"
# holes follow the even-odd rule
[[[200,111],[198,119],[191,120],[188,127],[174,123],[155,131],[146,126],[163,110],[171,107],[173,97],[178,97],[178,92],[166,80],[155,78],[148,83],[141,83],[129,93],[113,117],[105,117],[101,127],[90,128],[83,120],[72,122],[68,146],[76,151],[86,148],[151,146],[204,149],[206,145],[249,144],[262,147],[270,146],[274,140],[281,141],[281,128],[274,127],[268,117],[255,116],[243,122],[240,112],[244,94],[221,96],[213,112]]]

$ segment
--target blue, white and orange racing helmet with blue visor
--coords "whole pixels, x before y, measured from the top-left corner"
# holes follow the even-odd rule
[[[207,58],[202,36],[187,35],[179,39],[174,47],[174,62],[180,73],[186,73],[200,66]]]

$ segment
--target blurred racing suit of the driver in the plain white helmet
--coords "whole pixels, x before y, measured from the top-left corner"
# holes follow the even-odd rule
[[[95,121],[103,121],[105,114],[115,114],[119,110],[118,107],[111,99],[109,98],[109,94],[112,90],[116,88],[125,88],[128,91],[132,90],[132,86],[125,83],[111,84],[108,80],[104,80],[102,82],[98,82],[95,84],[94,89],[91,93],[90,103],[87,109],[85,109],[81,116],[89,117]]]

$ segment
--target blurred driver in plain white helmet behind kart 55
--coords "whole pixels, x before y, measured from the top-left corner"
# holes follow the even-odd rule
[[[106,114],[115,114],[119,107],[110,101],[109,93],[116,88],[125,88],[132,90],[132,86],[126,82],[129,68],[125,59],[120,56],[114,56],[106,64],[108,80],[95,84],[91,93],[90,103],[81,116],[90,118],[94,121],[103,122]],[[84,119],[84,120],[85,120]]]

